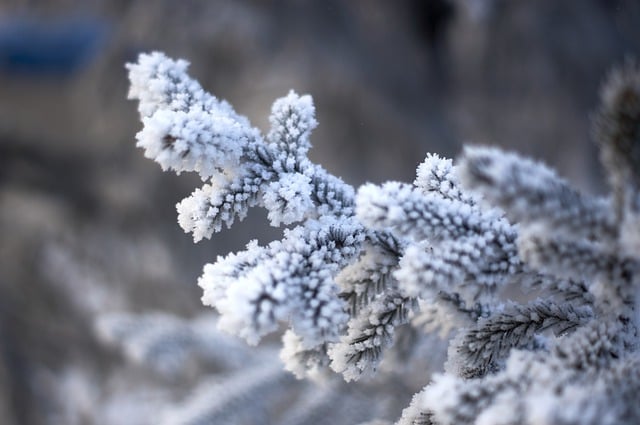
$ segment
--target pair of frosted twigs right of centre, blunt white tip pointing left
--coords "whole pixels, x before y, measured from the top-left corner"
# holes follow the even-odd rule
[[[475,301],[522,271],[516,227],[497,210],[390,182],[361,187],[356,213],[367,226],[419,241],[394,273],[407,296],[459,292]]]

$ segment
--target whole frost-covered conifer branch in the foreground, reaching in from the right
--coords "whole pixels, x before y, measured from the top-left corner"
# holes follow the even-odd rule
[[[206,181],[177,207],[195,241],[253,206],[288,226],[280,240],[252,241],[204,267],[202,299],[220,329],[255,344],[284,325],[287,370],[299,378],[333,370],[346,381],[402,369],[407,347],[438,359],[438,343],[422,345],[437,334],[448,346],[444,372],[424,376],[399,424],[640,422],[637,65],[612,74],[595,118],[608,198],[487,147],[465,148],[455,165],[427,155],[412,185],[356,191],[307,157],[317,125],[309,96],[277,100],[263,137],[192,80],[186,62],[143,54],[128,69],[144,124],[138,146],[163,169]],[[134,357],[158,344],[110,335],[137,341]],[[385,360],[396,363],[383,368]],[[245,372],[251,390],[220,396],[211,386],[210,399],[229,399],[212,418],[242,410],[236,393],[264,391],[280,376]],[[336,403],[329,393],[311,398],[291,423],[316,421]]]

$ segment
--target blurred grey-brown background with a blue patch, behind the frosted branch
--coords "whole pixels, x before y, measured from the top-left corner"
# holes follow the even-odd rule
[[[126,100],[124,64],[150,50],[189,60],[262,129],[277,97],[311,94],[310,156],[354,185],[482,143],[602,193],[589,116],[607,71],[640,56],[640,1],[0,0],[2,424],[157,423],[153,406],[230,367],[158,377],[96,325],[188,325],[209,312],[202,265],[279,234],[261,211],[198,245],[177,226],[201,183],[143,158]]]

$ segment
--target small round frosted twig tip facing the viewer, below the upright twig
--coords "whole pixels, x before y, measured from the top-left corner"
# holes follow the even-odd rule
[[[301,221],[314,207],[311,179],[299,173],[285,173],[271,183],[262,197],[272,226]]]

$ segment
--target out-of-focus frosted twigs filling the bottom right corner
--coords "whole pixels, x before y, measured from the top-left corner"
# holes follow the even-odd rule
[[[422,411],[439,425],[635,424],[639,358],[619,357],[616,334],[590,322],[554,340],[549,352],[513,350],[502,370],[483,379],[438,375],[423,391]]]

